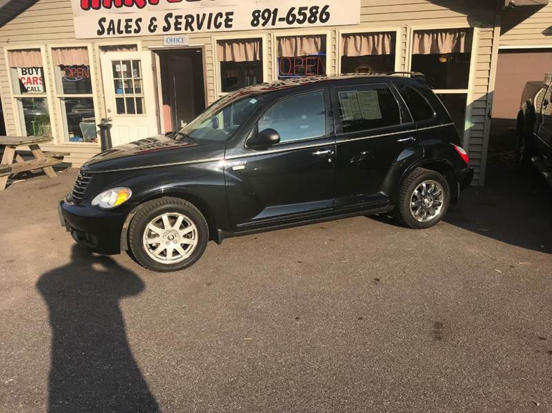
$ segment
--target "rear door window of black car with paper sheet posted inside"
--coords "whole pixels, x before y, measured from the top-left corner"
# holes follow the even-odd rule
[[[343,133],[401,123],[399,103],[387,85],[354,85],[336,92]]]

